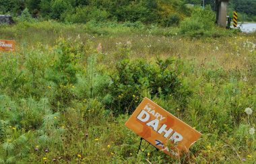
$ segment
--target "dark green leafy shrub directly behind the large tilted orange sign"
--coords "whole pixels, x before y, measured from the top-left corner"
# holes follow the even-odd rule
[[[139,101],[148,95],[165,96],[178,94],[181,82],[177,73],[170,69],[173,60],[158,60],[156,64],[145,60],[121,60],[116,65],[117,73],[112,76],[110,109],[115,113],[133,112]]]

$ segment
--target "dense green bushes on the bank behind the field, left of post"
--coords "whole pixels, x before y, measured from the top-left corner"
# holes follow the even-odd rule
[[[32,17],[63,22],[95,21],[178,24],[191,13],[185,0],[0,0],[0,13],[18,16],[28,9]]]

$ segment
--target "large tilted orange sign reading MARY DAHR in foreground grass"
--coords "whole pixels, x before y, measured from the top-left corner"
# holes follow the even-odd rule
[[[125,126],[172,157],[187,152],[201,136],[200,132],[147,97],[141,101]]]

